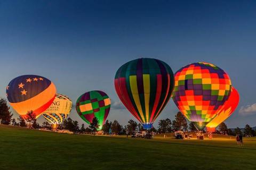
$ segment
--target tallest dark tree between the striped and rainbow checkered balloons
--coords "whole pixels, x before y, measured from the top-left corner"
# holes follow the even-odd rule
[[[179,130],[187,131],[188,130],[187,120],[181,112],[178,112],[175,115],[175,120],[172,121],[172,128],[174,131],[179,131]]]

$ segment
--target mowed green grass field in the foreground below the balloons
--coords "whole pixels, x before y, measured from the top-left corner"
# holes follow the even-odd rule
[[[234,137],[233,137],[234,138]],[[0,169],[256,169],[256,138],[153,140],[0,126]]]

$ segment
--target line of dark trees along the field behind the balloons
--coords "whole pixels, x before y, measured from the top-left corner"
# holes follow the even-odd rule
[[[33,111],[29,111],[26,115],[25,120],[20,116],[17,118],[18,122],[15,118],[12,118],[13,114],[10,111],[10,107],[7,106],[7,101],[5,99],[0,99],[0,123],[6,125],[15,125],[26,127],[28,125],[29,128],[39,129],[39,128],[47,128],[51,129],[51,125],[48,122],[43,122],[42,125],[39,125],[36,121],[36,116]],[[89,127],[85,128],[85,125],[82,124],[81,128],[79,128],[78,122],[73,121],[70,117],[67,120],[64,120],[62,124],[59,125],[58,129],[67,129],[69,131],[73,131],[76,133],[94,133],[97,131],[99,122],[97,118],[94,118]],[[137,123],[133,120],[129,120],[128,124],[123,126],[117,120],[106,121],[106,123],[102,126],[102,131],[104,133],[109,133],[111,129],[111,133],[114,134],[132,134],[133,131],[142,131],[143,127],[141,123]],[[150,131],[157,133],[171,133],[174,131],[190,131],[195,132],[196,128],[193,123],[189,123],[186,118],[183,116],[181,112],[178,112],[175,115],[174,120],[170,120],[169,118],[159,120],[158,127],[151,128]],[[215,133],[219,134],[228,134],[228,135],[236,135],[242,134],[247,137],[256,136],[256,131],[251,128],[250,125],[246,124],[243,129],[228,129],[227,125],[222,122]]]

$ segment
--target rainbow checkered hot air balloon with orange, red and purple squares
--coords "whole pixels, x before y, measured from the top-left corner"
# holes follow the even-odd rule
[[[230,96],[228,74],[218,66],[199,62],[182,67],[174,79],[174,103],[197,130],[202,131]]]

